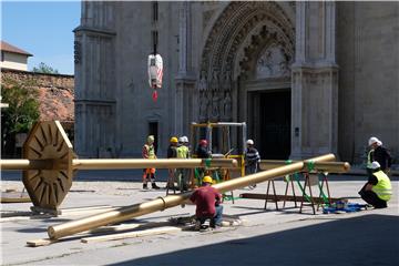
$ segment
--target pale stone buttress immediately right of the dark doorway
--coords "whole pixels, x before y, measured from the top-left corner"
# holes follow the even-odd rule
[[[336,3],[296,2],[291,158],[337,154]]]

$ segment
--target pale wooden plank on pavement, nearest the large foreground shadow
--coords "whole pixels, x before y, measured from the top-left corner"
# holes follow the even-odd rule
[[[117,239],[142,237],[142,236],[150,236],[150,235],[161,235],[161,234],[174,233],[174,232],[180,232],[180,231],[182,231],[181,227],[164,226],[164,227],[160,227],[160,228],[135,231],[135,232],[121,233],[121,234],[83,237],[83,238],[81,238],[81,242],[90,244],[90,243],[94,243],[94,242],[117,241]]]

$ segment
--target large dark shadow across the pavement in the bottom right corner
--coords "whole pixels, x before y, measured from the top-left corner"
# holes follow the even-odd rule
[[[399,265],[398,224],[366,215],[111,265]]]

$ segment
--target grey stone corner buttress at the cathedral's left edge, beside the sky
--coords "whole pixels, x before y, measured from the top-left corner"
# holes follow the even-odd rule
[[[99,156],[115,145],[115,49],[113,6],[83,2],[81,24],[74,29],[75,151]]]

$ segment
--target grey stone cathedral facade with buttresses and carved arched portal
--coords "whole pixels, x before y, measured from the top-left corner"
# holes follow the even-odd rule
[[[398,2],[82,2],[80,156],[158,156],[192,122],[246,122],[264,158],[399,154]],[[164,61],[156,102],[147,55]]]

